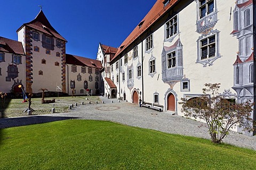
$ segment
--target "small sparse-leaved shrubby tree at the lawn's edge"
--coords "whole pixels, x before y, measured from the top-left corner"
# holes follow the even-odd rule
[[[204,86],[202,96],[189,100],[181,98],[179,104],[185,116],[206,122],[213,143],[220,143],[229,134],[228,131],[237,125],[248,131],[253,130],[252,103],[237,103],[222,98],[218,92],[220,83],[206,83]]]

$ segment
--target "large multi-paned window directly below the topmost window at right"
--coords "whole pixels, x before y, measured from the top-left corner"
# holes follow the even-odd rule
[[[201,40],[201,60],[215,57],[215,35]]]

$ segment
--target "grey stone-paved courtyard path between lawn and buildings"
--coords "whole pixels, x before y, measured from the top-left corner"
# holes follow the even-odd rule
[[[203,124],[202,122],[194,121],[178,115],[172,115],[169,112],[158,112],[145,107],[139,107],[138,105],[127,103],[125,101],[118,103],[117,99],[106,99],[105,97],[101,97],[101,100],[105,101],[105,104],[95,104],[95,102],[87,104],[87,101],[85,101],[85,105],[80,103],[68,113],[1,118],[0,129],[12,126],[78,118],[85,120],[111,121],[166,133],[210,139],[207,128],[204,126],[198,128]],[[111,103],[112,100],[113,103]],[[256,150],[256,136],[249,137],[244,134],[230,132],[223,142],[238,147]]]

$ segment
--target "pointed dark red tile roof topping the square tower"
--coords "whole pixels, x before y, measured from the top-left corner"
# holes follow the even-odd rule
[[[21,27],[17,30],[17,32],[24,26],[28,26],[31,28],[34,28],[38,31],[44,32],[48,35],[51,35],[53,37],[59,38],[61,40],[67,41],[65,38],[63,38],[50,24],[50,22],[47,20],[46,16],[44,15],[42,9],[37,14],[36,18],[28,23],[23,23]]]

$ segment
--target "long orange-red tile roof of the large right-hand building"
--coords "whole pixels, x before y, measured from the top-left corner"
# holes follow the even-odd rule
[[[120,47],[118,48],[116,55],[113,57],[112,60],[116,56],[118,56],[123,50],[126,49],[135,39],[137,39],[143,32],[145,32],[151,25],[153,25],[161,16],[169,10],[178,0],[170,0],[169,4],[164,6],[163,0],[157,0],[155,5],[151,8],[151,10],[147,13],[145,18],[143,18],[140,22],[141,27],[137,26],[134,30],[130,33],[130,35],[123,41]]]

